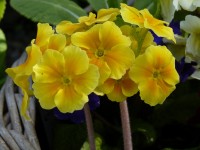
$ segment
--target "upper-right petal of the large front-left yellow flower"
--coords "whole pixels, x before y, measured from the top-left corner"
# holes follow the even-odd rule
[[[62,54],[65,58],[65,73],[79,75],[88,70],[89,58],[85,51],[76,46],[67,46]]]

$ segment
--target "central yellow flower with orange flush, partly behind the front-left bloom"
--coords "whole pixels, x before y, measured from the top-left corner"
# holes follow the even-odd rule
[[[134,53],[129,48],[131,41],[113,22],[107,21],[88,31],[77,32],[71,41],[87,52],[90,63],[99,67],[100,84],[109,77],[120,79],[133,63]]]

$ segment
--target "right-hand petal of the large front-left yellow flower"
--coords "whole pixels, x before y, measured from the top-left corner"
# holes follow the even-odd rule
[[[90,65],[88,70],[73,78],[73,85],[77,92],[88,95],[97,87],[99,81],[99,71],[97,66]]]

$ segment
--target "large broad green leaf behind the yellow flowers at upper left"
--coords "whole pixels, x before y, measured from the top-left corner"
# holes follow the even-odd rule
[[[62,20],[77,22],[86,12],[69,0],[11,0],[20,14],[36,22],[58,24]]]

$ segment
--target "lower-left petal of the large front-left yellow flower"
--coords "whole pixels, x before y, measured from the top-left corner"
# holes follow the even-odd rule
[[[35,97],[44,109],[52,109],[56,107],[54,97],[60,88],[60,83],[33,83],[33,90]]]

